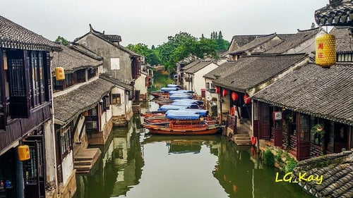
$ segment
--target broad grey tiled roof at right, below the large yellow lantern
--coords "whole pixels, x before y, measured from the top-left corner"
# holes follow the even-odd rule
[[[353,125],[353,65],[308,63],[253,95],[254,99]]]

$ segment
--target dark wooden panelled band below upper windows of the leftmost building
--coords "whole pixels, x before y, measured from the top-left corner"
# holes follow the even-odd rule
[[[31,109],[29,118],[9,119],[6,130],[0,130],[0,153],[50,118],[50,103],[47,102]]]

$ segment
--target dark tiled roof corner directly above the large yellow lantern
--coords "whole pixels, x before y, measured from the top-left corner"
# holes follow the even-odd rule
[[[318,25],[353,26],[353,2],[335,1],[315,11],[314,16]]]

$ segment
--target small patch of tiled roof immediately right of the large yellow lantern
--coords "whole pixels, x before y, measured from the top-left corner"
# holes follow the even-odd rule
[[[333,27],[330,31],[330,34],[335,35],[336,37],[336,51],[347,52],[353,51],[353,40],[349,39],[352,36],[350,34],[349,27]]]

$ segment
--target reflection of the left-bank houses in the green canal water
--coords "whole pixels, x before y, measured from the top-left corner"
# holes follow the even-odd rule
[[[95,171],[78,175],[76,198],[118,197],[138,184],[144,164],[138,134],[132,125],[113,128],[112,134]]]

